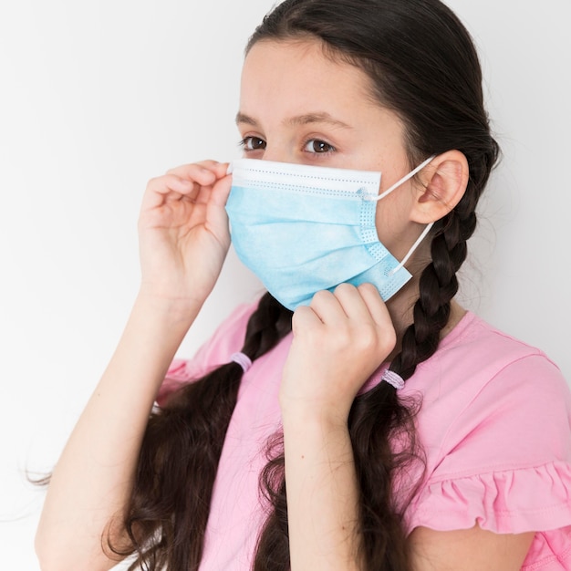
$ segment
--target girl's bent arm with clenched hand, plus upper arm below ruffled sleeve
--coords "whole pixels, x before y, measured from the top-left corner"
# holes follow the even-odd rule
[[[369,314],[369,315],[368,315]],[[376,290],[339,286],[294,314],[280,391],[292,571],[364,569],[358,558],[358,482],[348,411],[365,379],[394,347]],[[415,571],[518,571],[534,534],[478,526],[410,535]]]

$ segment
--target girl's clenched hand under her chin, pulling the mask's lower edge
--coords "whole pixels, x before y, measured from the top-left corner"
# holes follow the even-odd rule
[[[358,390],[395,347],[396,333],[374,285],[317,292],[294,312],[294,339],[280,387],[283,415],[347,422]]]

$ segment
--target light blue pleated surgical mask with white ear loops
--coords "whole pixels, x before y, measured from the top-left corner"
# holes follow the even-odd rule
[[[379,242],[377,201],[430,161],[379,194],[380,172],[240,159],[226,203],[238,257],[283,306],[309,305],[320,290],[370,283],[387,301],[410,280]]]

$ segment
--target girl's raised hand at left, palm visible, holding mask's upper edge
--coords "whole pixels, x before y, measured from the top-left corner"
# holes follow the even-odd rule
[[[202,161],[147,184],[139,218],[141,293],[182,312],[202,306],[230,246],[228,163]]]

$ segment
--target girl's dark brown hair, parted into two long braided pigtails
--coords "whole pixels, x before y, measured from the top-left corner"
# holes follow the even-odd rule
[[[265,40],[314,38],[325,53],[362,69],[379,105],[403,121],[410,165],[458,150],[470,180],[461,202],[431,230],[431,263],[420,275],[413,323],[390,368],[410,379],[438,348],[456,273],[476,226],[476,204],[498,157],[483,107],[482,72],[472,39],[439,0],[285,0],[265,17],[247,49]],[[266,294],[248,323],[243,351],[255,359],[290,330],[291,312]],[[197,569],[224,435],[242,369],[230,363],[171,395],[153,413],[124,526],[138,552],[131,569]],[[420,457],[414,414],[387,383],[359,396],[349,431],[360,485],[362,555],[371,571],[410,571],[403,512],[407,496],[395,493],[396,476]],[[404,437],[404,438],[403,438]],[[391,442],[406,442],[396,452]],[[289,568],[283,448],[279,435],[261,484],[274,506],[261,532],[254,568]],[[408,498],[410,499],[410,498]]]

